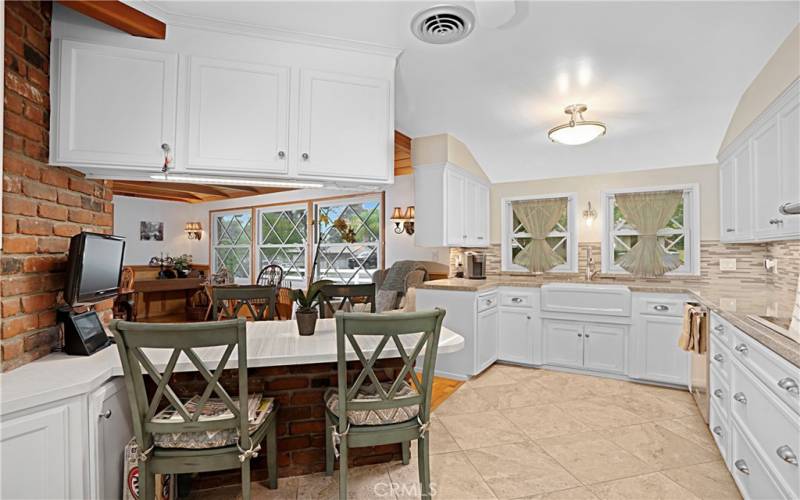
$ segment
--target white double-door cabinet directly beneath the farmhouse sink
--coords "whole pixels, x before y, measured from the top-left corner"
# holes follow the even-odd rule
[[[625,325],[578,321],[542,321],[544,363],[622,373],[625,371]]]

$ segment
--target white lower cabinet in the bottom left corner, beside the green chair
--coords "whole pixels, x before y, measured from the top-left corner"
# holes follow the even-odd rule
[[[4,415],[0,498],[119,498],[132,436],[121,378],[90,394]]]

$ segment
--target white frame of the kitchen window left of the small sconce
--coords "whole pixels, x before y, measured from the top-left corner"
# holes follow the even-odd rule
[[[500,219],[502,227],[502,241],[500,243],[500,267],[504,272],[530,273],[526,268],[514,264],[511,253],[511,237],[514,228],[514,215],[511,210],[511,203],[515,201],[544,200],[549,198],[567,199],[567,262],[558,265],[547,272],[556,273],[576,273],[578,272],[578,229],[577,229],[577,194],[576,193],[554,193],[534,196],[514,196],[500,200]],[[551,233],[552,236],[559,236],[561,233]]]

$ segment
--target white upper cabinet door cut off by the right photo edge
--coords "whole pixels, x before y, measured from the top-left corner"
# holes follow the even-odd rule
[[[795,100],[778,115],[781,130],[780,146],[780,193],[776,201],[784,203],[800,201],[800,102]],[[800,217],[778,215],[778,231],[782,236],[800,234]]]

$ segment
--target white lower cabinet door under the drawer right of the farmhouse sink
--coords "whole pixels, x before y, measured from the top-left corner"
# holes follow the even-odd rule
[[[643,315],[639,327],[636,335],[644,342],[639,351],[643,356],[640,360],[641,377],[656,382],[687,385],[689,353],[678,347],[683,319]]]

